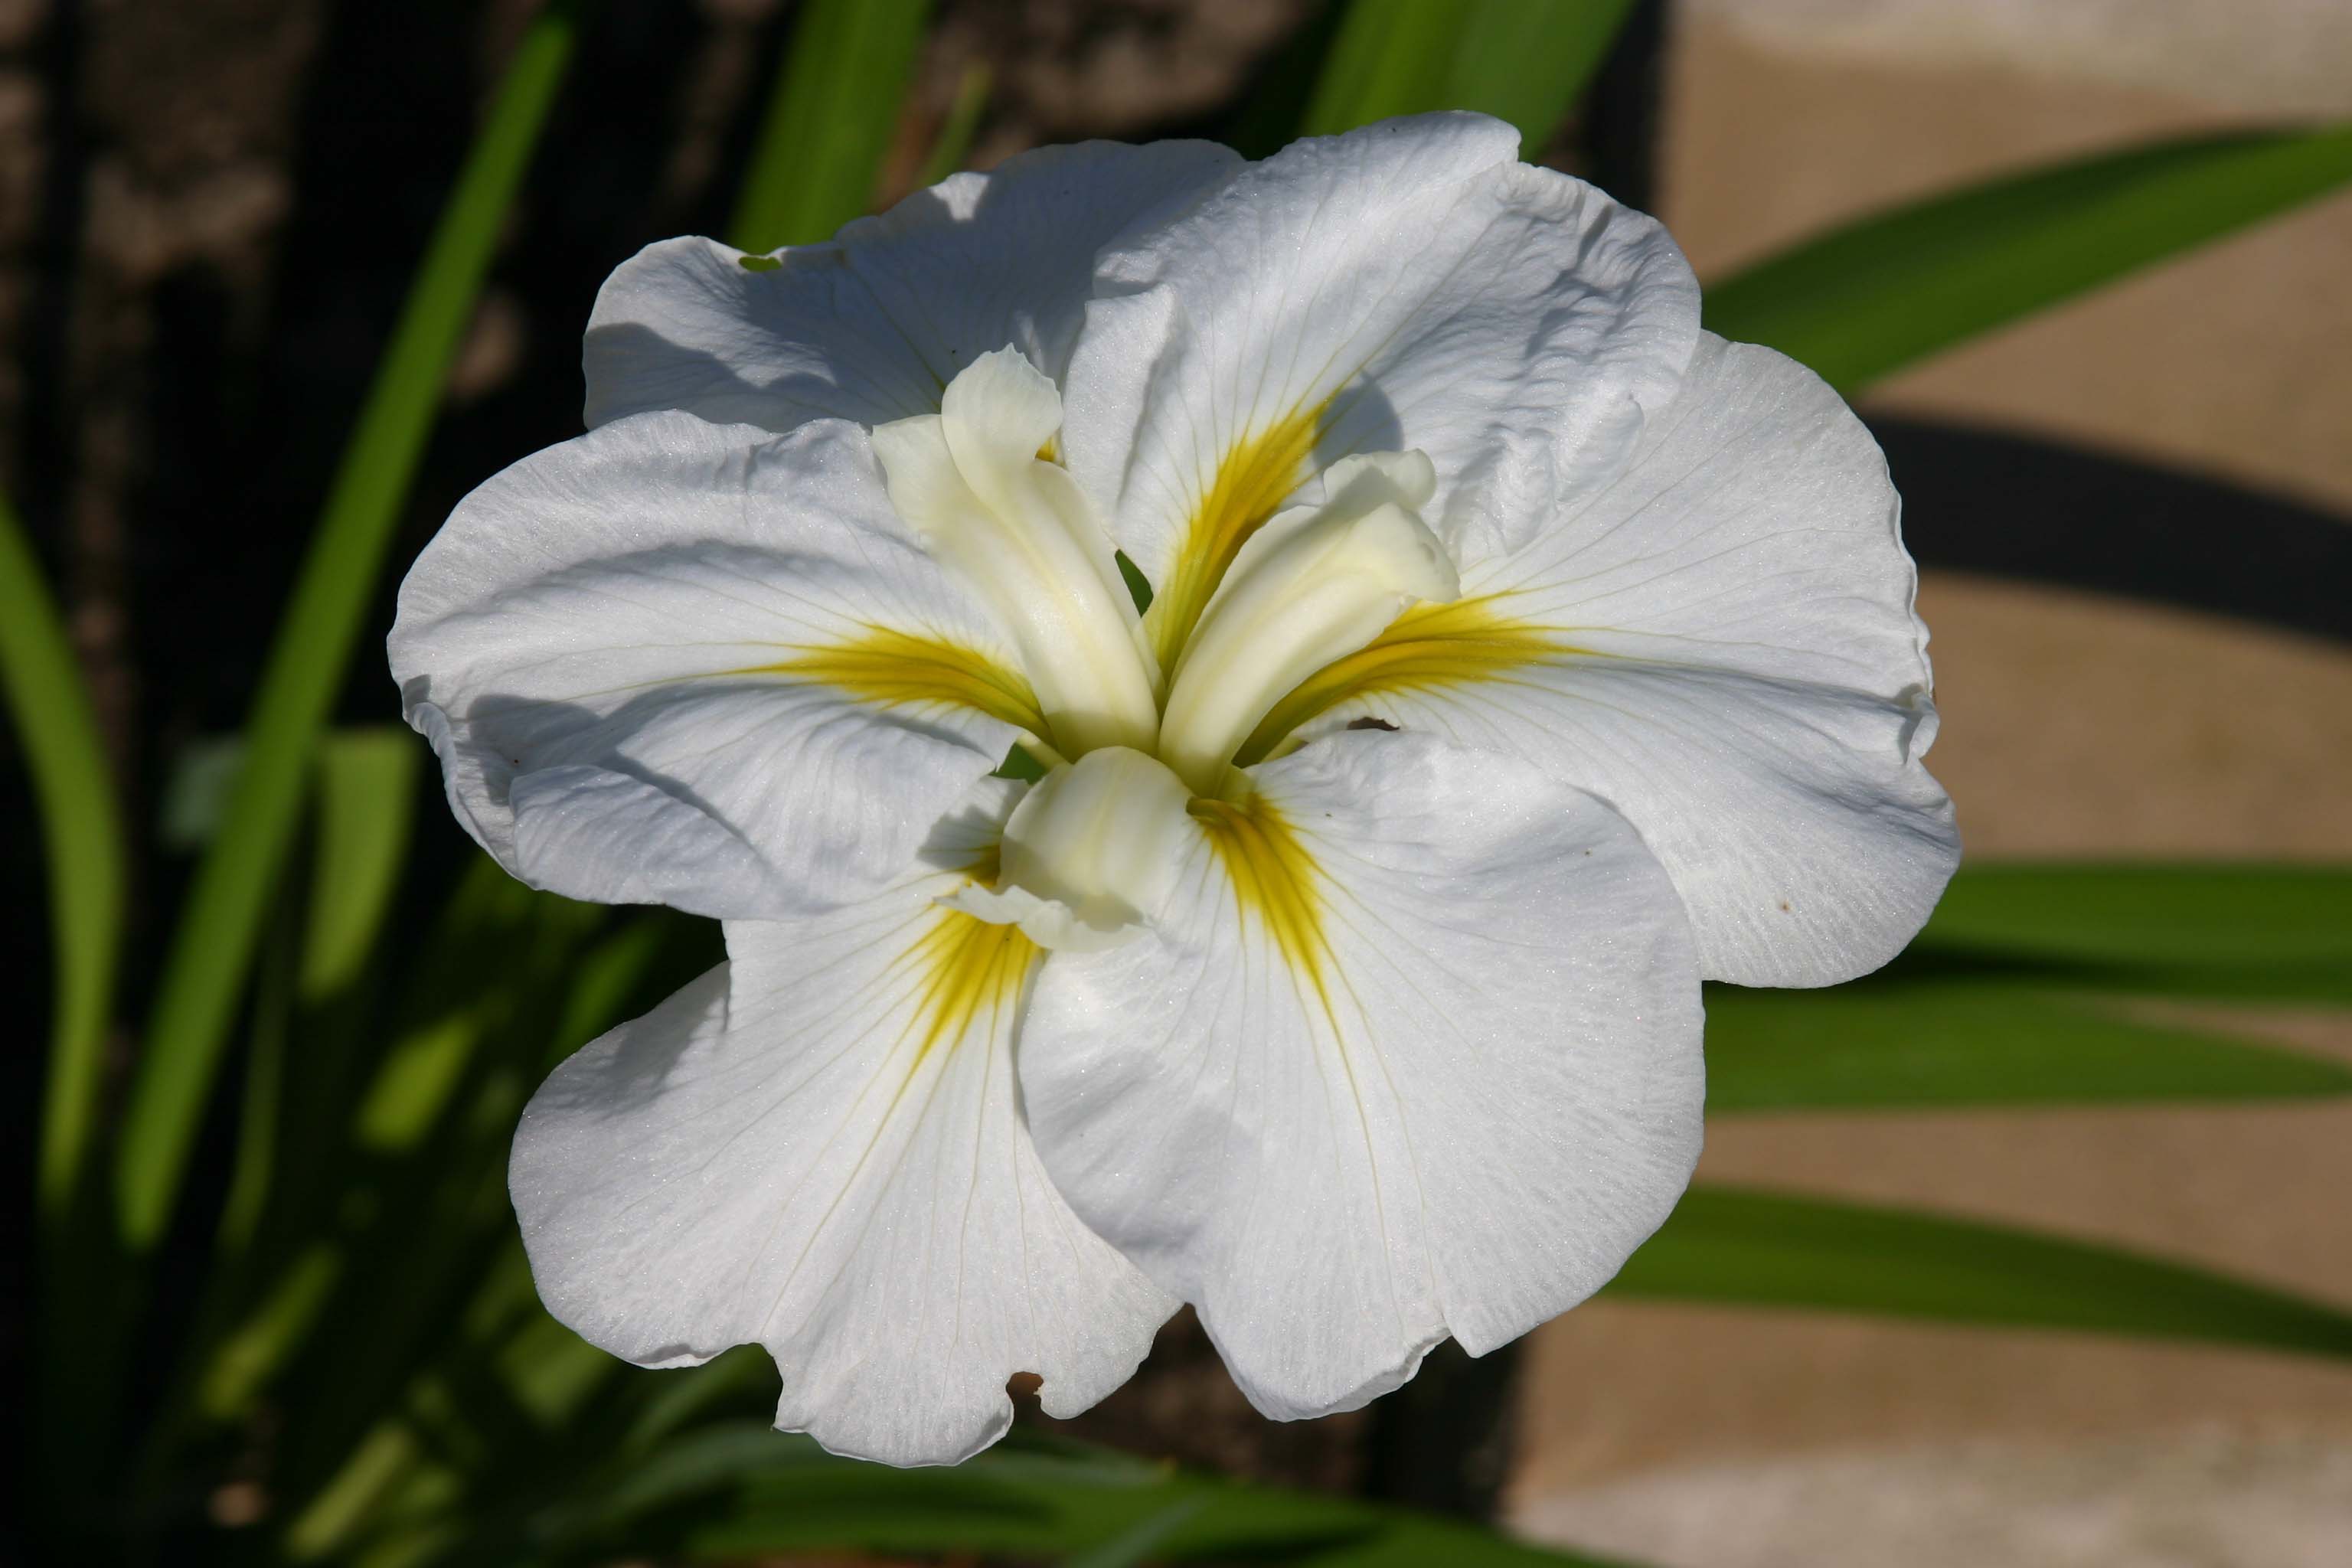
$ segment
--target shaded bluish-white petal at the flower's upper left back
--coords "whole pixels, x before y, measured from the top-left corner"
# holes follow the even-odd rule
[[[1061,378],[1094,254],[1240,160],[1207,141],[1040,148],[955,174],[776,266],[663,240],[604,282],[583,353],[588,423],[644,409],[790,430],[938,414],[941,388],[1014,346]]]

